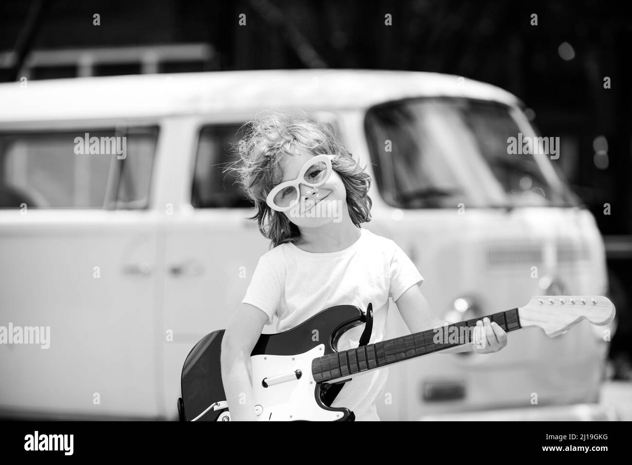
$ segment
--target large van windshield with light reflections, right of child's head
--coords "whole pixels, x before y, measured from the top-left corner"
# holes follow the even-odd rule
[[[365,131],[384,200],[398,208],[572,205],[552,150],[509,149],[509,138],[537,136],[521,116],[497,102],[448,97],[370,108]],[[559,144],[551,148],[559,154]]]

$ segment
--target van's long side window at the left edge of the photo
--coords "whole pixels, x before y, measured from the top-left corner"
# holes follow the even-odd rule
[[[0,133],[0,208],[145,208],[157,128]]]

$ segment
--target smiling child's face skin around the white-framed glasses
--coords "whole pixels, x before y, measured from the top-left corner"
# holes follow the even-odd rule
[[[301,150],[298,155],[286,155],[283,166],[283,181],[296,179],[301,168],[314,155],[307,150]],[[319,227],[329,222],[339,222],[343,211],[346,211],[347,191],[339,174],[332,169],[331,176],[318,187],[300,184],[300,202],[282,214],[296,226]],[[344,208],[344,210],[343,210]]]

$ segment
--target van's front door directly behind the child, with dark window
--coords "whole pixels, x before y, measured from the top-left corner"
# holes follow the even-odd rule
[[[198,118],[167,122],[173,150],[161,167],[178,193],[164,195],[165,275],[162,344],[164,406],[177,418],[182,366],[204,335],[228,326],[269,241],[257,229],[252,203],[238,189],[226,164],[243,120],[209,123]]]

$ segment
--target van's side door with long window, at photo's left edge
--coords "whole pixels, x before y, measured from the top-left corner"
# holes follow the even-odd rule
[[[0,326],[42,330],[0,345],[3,416],[155,416],[157,135],[0,128]]]

